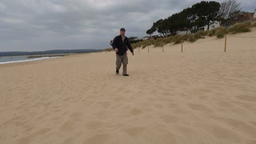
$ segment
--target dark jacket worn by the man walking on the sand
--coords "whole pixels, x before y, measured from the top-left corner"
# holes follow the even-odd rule
[[[124,41],[122,41],[122,36],[118,35],[114,38],[114,42],[113,42],[113,49],[118,48],[118,55],[123,55],[126,54],[127,51],[127,46],[130,50],[130,52],[134,52],[133,48],[130,46],[130,42],[129,39],[127,37],[125,37]]]

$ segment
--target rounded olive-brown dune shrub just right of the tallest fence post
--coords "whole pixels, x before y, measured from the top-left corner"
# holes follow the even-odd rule
[[[231,26],[229,31],[231,34],[246,33],[250,32],[251,26],[251,22],[237,23],[234,26]]]

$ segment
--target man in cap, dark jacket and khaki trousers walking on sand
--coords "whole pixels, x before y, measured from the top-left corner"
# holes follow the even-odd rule
[[[119,74],[119,69],[122,66],[122,75],[129,76],[127,74],[127,64],[128,64],[128,56],[127,56],[127,46],[130,52],[134,55],[134,50],[130,45],[129,39],[125,36],[126,29],[120,29],[120,35],[116,36],[113,40],[113,49],[116,52],[116,71],[115,74]]]

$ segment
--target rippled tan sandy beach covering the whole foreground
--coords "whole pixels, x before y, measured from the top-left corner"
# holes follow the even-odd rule
[[[0,143],[255,144],[255,37],[0,65]]]

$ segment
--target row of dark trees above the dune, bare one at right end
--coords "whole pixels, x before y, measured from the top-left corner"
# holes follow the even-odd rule
[[[153,23],[146,34],[157,31],[164,37],[175,35],[178,30],[194,33],[200,28],[219,22],[221,26],[232,24],[234,17],[240,13],[240,4],[236,0],[225,0],[224,2],[198,2],[179,13],[172,14],[165,19],[159,19]]]

